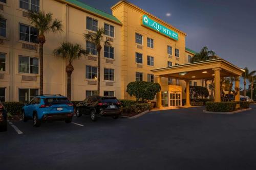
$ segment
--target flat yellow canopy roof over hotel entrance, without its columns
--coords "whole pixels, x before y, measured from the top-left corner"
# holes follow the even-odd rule
[[[201,80],[214,79],[215,69],[220,69],[220,77],[242,76],[242,73],[244,72],[243,69],[221,58],[158,68],[151,71],[155,76],[176,78],[180,80]]]

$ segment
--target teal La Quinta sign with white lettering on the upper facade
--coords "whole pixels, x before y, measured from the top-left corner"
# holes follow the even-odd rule
[[[164,27],[163,25],[154,21],[153,19],[148,18],[148,16],[146,15],[143,15],[142,17],[142,25],[154,31],[157,31],[167,37],[178,40],[178,33]]]

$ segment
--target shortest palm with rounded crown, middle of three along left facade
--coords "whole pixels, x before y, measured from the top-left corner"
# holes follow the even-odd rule
[[[61,45],[56,48],[53,53],[55,56],[61,57],[65,60],[68,60],[69,62],[69,64],[66,66],[66,72],[68,75],[67,96],[68,99],[71,100],[71,74],[74,70],[72,61],[81,58],[82,55],[87,54],[87,52],[81,47],[81,45],[77,43],[72,44],[70,42],[62,42]]]

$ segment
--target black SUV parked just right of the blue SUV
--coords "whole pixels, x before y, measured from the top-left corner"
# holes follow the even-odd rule
[[[99,116],[112,116],[114,119],[121,114],[121,103],[111,96],[89,96],[76,105],[76,116],[90,114],[93,121]]]

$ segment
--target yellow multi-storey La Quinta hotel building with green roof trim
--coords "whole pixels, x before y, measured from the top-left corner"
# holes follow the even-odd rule
[[[44,45],[44,93],[66,95],[67,61],[53,55],[61,42],[76,42],[90,55],[72,65],[72,101],[81,101],[97,90],[97,51],[83,34],[105,29],[102,44],[101,95],[133,99],[126,86],[133,81],[157,82],[151,70],[189,63],[196,52],[186,48],[186,33],[126,1],[115,4],[112,15],[76,0],[0,0],[4,19],[0,28],[0,98],[28,101],[39,91],[38,30],[30,25],[28,10],[51,12],[62,21],[62,32],[46,34]],[[193,81],[191,85],[201,85]],[[162,106],[179,106],[186,83],[161,78]]]

